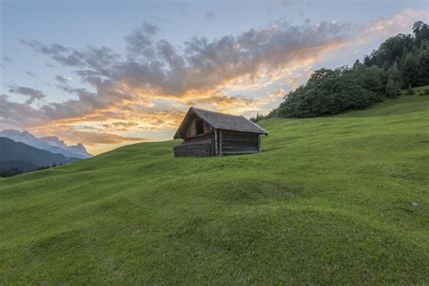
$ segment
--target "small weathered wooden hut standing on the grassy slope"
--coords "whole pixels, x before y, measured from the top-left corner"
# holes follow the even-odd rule
[[[243,116],[191,107],[176,131],[184,142],[175,156],[222,156],[261,152],[261,135],[268,132]]]

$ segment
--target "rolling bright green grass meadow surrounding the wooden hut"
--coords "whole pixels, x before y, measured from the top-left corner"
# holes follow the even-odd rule
[[[429,283],[429,96],[261,125],[259,154],[0,180],[0,284]]]

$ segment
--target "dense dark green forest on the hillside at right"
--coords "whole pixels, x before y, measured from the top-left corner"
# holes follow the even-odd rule
[[[310,118],[346,110],[365,109],[386,96],[396,98],[402,89],[429,84],[429,27],[419,21],[413,34],[397,34],[352,67],[314,71],[306,84],[285,95],[267,116]],[[425,91],[424,93],[429,93]]]

